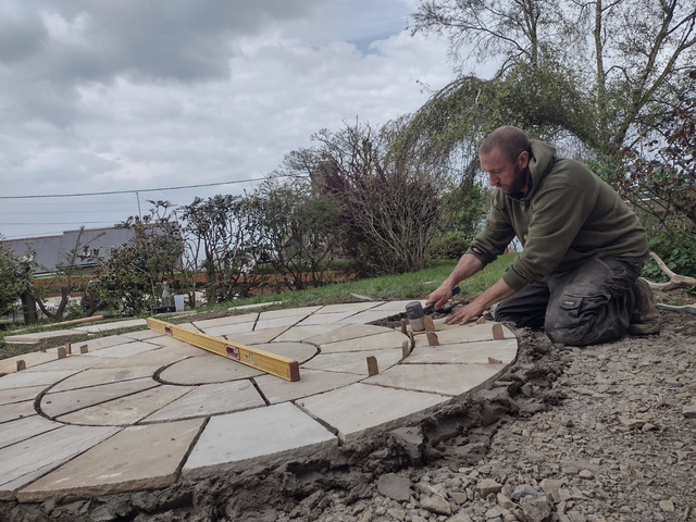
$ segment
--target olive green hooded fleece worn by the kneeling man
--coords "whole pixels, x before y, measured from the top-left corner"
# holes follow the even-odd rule
[[[647,253],[638,217],[585,165],[557,158],[555,147],[532,140],[530,172],[526,196],[495,190],[488,217],[468,250],[487,264],[517,235],[524,248],[502,275],[511,288],[574,270],[592,258]]]

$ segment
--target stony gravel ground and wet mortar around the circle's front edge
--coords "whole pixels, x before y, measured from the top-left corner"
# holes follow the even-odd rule
[[[662,316],[659,336],[586,348],[518,330],[490,389],[309,461],[0,520],[696,521],[696,316]]]

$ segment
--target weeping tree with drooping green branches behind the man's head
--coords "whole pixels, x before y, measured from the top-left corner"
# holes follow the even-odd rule
[[[418,164],[440,181],[436,244],[458,238],[461,250],[481,225],[488,186],[481,177],[477,151],[494,128],[515,125],[533,137],[569,145],[592,140],[587,98],[575,82],[574,73],[550,54],[536,57],[534,65],[520,59],[493,79],[465,76],[452,82],[408,119],[393,150],[399,161]]]

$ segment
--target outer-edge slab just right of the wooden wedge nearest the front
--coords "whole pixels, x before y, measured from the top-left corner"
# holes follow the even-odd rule
[[[397,364],[363,381],[394,388],[459,396],[498,378],[507,364]]]

